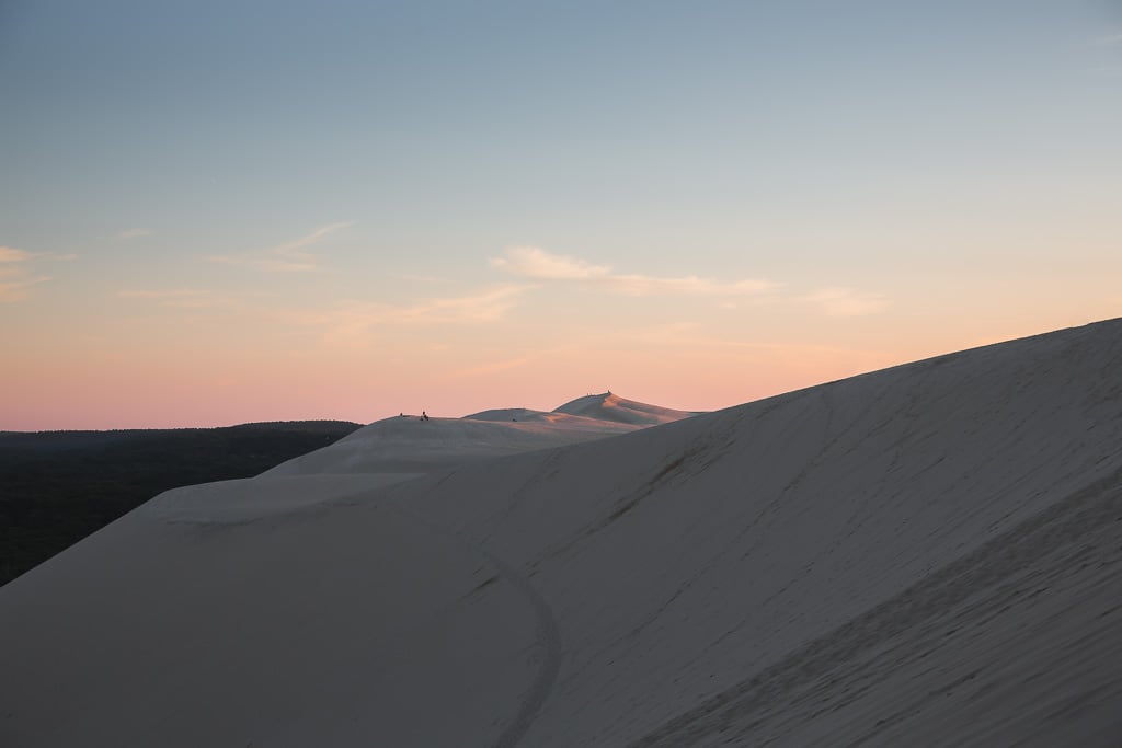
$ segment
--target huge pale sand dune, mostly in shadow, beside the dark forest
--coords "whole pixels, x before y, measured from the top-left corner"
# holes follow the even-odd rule
[[[1118,745],[1120,372],[1113,320],[176,489],[0,589],[0,744]]]

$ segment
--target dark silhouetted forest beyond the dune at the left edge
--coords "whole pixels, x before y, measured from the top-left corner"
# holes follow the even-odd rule
[[[0,432],[0,584],[162,491],[249,478],[359,428],[289,421],[168,431]]]

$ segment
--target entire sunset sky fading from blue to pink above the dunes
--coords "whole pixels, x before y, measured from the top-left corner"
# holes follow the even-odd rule
[[[716,409],[1122,315],[1122,2],[0,0],[0,430]]]

